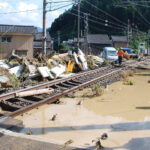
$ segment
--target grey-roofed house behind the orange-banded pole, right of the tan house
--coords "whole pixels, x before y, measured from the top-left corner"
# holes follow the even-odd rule
[[[43,40],[43,33],[42,32],[36,33],[34,37],[34,53],[42,52],[42,40]],[[52,49],[52,40],[48,32],[46,40],[47,40],[46,48],[48,53]]]

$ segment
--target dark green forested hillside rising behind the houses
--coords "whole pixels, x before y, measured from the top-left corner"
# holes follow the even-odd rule
[[[137,0],[132,0],[136,3]],[[143,5],[148,5],[148,2],[141,0]],[[148,7],[139,7],[134,5],[132,7],[115,7],[115,4],[123,4],[123,2],[131,2],[131,0],[82,0],[81,1],[81,30],[84,31],[84,14],[89,13],[89,33],[91,34],[108,34],[108,35],[126,35],[127,22],[138,30],[147,32],[149,29],[148,23],[140,15],[142,14],[147,21],[150,22],[150,9]],[[108,16],[110,14],[114,18]],[[74,15],[73,15],[74,14]],[[96,17],[96,18],[94,18]],[[102,19],[102,20],[101,20]],[[93,20],[93,21],[91,21]],[[105,20],[108,21],[108,26],[105,26]],[[100,22],[100,23],[97,23]],[[122,28],[124,26],[124,29]],[[52,23],[49,32],[51,36],[56,39],[57,31],[61,32],[61,40],[68,40],[77,37],[77,5],[73,5],[71,9],[64,12]]]

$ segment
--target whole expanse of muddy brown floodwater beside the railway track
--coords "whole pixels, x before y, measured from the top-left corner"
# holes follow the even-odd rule
[[[92,140],[107,132],[109,138],[102,142],[107,148],[146,150],[150,147],[150,72],[140,71],[130,80],[133,86],[114,83],[101,97],[82,97],[87,93],[90,96],[86,89],[75,99],[63,98],[60,105],[44,105],[18,116],[25,126],[21,132],[30,129],[37,137],[61,144],[72,139],[72,146],[91,149]],[[78,100],[83,100],[83,105],[76,105]],[[56,113],[56,120],[51,121]],[[137,142],[143,147],[131,144]]]

